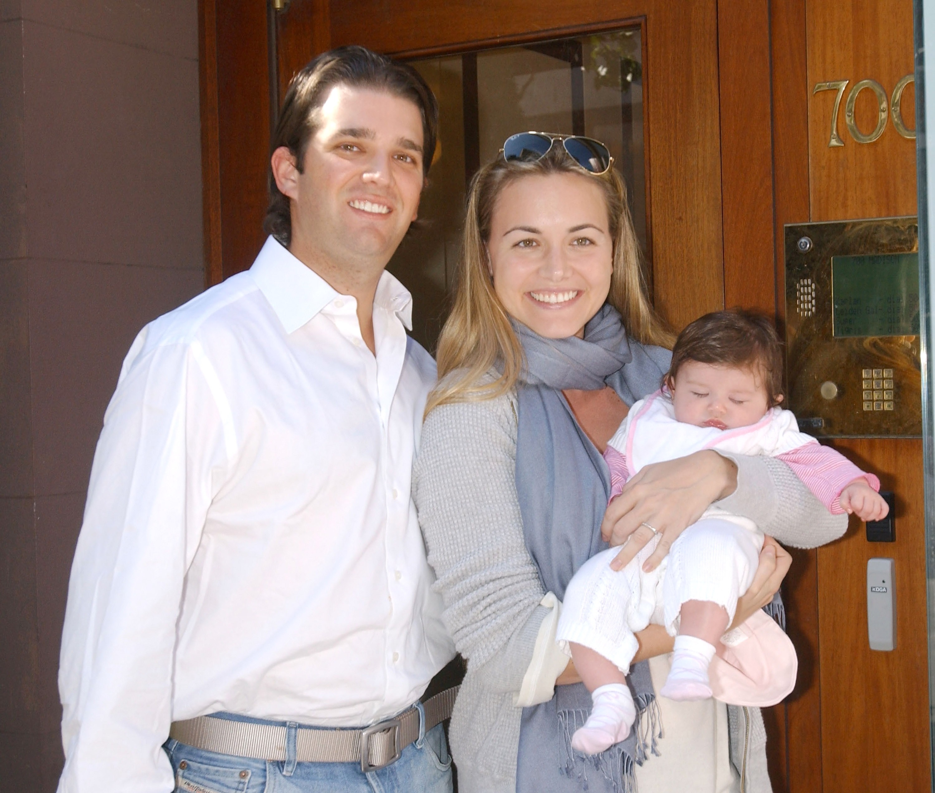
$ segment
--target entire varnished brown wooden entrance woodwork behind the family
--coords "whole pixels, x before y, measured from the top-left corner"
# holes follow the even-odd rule
[[[289,79],[318,52],[350,43],[422,65],[464,64],[494,48],[639,30],[640,220],[654,303],[676,328],[725,305],[775,313],[782,327],[784,223],[915,211],[913,141],[890,124],[873,143],[856,143],[842,102],[845,145],[828,149],[834,97],[813,94],[817,82],[865,78],[891,92],[912,72],[911,0],[201,0],[200,10],[209,283],[249,267],[263,242],[269,124]],[[910,85],[907,120],[913,97]],[[869,99],[858,97],[859,129],[873,126]],[[444,160],[444,133],[441,143]],[[460,152],[466,177],[478,154]],[[452,167],[445,161],[430,179]],[[402,275],[428,311],[430,342],[444,275]],[[797,793],[928,789],[920,443],[835,445],[897,493],[898,540],[886,554],[898,565],[897,650],[867,646],[865,565],[882,554],[862,525],[852,521],[818,552],[796,552],[784,597],[799,681],[764,713],[770,776],[775,790]]]

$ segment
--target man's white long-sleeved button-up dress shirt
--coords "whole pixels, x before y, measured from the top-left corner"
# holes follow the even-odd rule
[[[68,587],[59,790],[168,793],[172,721],[368,725],[453,657],[410,500],[435,364],[383,273],[353,297],[274,239],[147,325],[104,418]]]

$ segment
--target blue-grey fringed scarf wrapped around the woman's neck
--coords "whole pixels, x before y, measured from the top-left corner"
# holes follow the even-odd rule
[[[513,323],[526,368],[517,388],[519,430],[516,489],[526,547],[546,591],[565,597],[575,570],[607,547],[600,523],[611,493],[604,458],[584,434],[564,389],[610,385],[627,404],[652,393],[669,369],[670,353],[626,339],[620,314],[605,305],[584,338],[543,339]],[[570,736],[591,710],[584,685],[558,685],[549,702],[525,708],[516,772],[517,793],[621,793],[634,789],[634,763],[654,751],[658,734],[649,665],[636,664],[628,682],[637,724],[623,743],[595,757],[571,750]]]

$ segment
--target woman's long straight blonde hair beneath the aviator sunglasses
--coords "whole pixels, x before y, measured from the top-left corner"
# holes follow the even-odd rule
[[[613,240],[613,270],[607,302],[623,317],[626,333],[643,344],[671,347],[672,333],[646,297],[640,268],[640,246],[626,203],[626,185],[614,168],[589,176],[561,145],[535,162],[502,156],[483,166],[471,180],[461,253],[458,257],[452,312],[441,329],[439,384],[428,396],[425,413],[447,402],[502,396],[516,385],[525,363],[523,346],[510,315],[494,291],[487,265],[487,243],[496,200],[511,182],[526,176],[571,173],[595,180],[604,193]],[[484,377],[497,365],[501,374]],[[448,377],[452,372],[457,374]]]

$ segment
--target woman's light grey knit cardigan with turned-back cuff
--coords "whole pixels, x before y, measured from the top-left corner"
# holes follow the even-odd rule
[[[428,561],[444,598],[442,618],[468,660],[450,731],[461,793],[515,793],[523,709],[513,705],[513,695],[549,612],[539,605],[545,593],[525,547],[514,479],[516,430],[514,395],[443,405],[425,420],[412,476]],[[720,506],[798,548],[844,533],[846,516],[829,514],[783,462],[730,456],[738,487]],[[762,716],[756,708],[728,708],[728,724],[744,789],[768,793]]]

